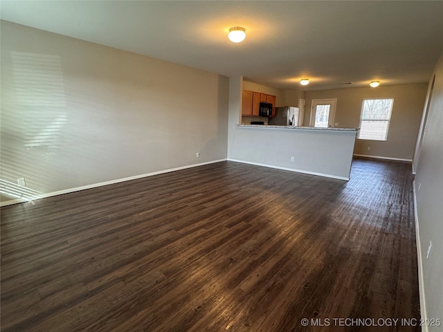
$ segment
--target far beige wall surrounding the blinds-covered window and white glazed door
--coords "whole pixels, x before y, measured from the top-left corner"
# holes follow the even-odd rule
[[[388,140],[356,140],[354,154],[412,160],[426,98],[427,84],[403,84],[377,88],[307,91],[305,122],[309,125],[314,99],[337,98],[334,122],[338,127],[359,127],[363,98],[395,98]],[[368,147],[371,147],[368,151]]]

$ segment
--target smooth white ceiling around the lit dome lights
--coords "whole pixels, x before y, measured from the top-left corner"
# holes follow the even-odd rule
[[[1,19],[280,89],[428,82],[443,1],[1,1]],[[227,38],[246,28],[240,44]]]

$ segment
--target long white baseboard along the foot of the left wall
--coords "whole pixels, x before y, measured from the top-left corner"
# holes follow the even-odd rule
[[[49,192],[47,194],[39,194],[38,196],[37,195],[35,196],[35,199],[44,199],[46,197],[57,196],[57,195],[62,195],[62,194],[69,194],[71,192],[78,192],[80,190],[87,190],[87,189],[91,189],[91,188],[95,188],[95,187],[102,187],[103,185],[112,185],[114,183],[120,183],[120,182],[125,182],[125,181],[136,180],[137,178],[146,178],[147,176],[154,176],[154,175],[158,175],[158,174],[175,172],[175,171],[179,171],[181,169],[187,169],[187,168],[192,168],[192,167],[198,167],[198,166],[203,166],[203,165],[220,163],[221,161],[226,161],[226,160],[227,160],[226,158],[218,159],[218,160],[211,160],[211,161],[207,161],[205,163],[198,163],[198,164],[193,164],[193,165],[186,165],[186,166],[181,166],[181,167],[164,169],[164,170],[157,171],[157,172],[151,172],[151,173],[146,173],[146,174],[141,174],[141,175],[136,175],[136,176],[129,176],[127,178],[118,178],[116,180],[105,181],[105,182],[100,182],[100,183],[94,183],[92,185],[83,185],[81,187],[75,187],[75,188],[69,188],[69,189],[65,189],[65,190],[59,190],[57,192]],[[23,203],[23,202],[27,202],[27,201],[29,201],[29,200],[28,199],[12,199],[11,201],[1,202],[0,203],[0,207],[1,206],[6,206],[6,205],[17,204],[17,203]]]

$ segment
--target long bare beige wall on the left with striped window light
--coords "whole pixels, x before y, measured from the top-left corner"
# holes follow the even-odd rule
[[[1,179],[45,194],[224,159],[228,86],[1,21]]]

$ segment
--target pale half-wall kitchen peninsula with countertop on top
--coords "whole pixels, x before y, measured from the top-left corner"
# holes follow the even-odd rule
[[[347,181],[358,131],[237,124],[229,159]]]

